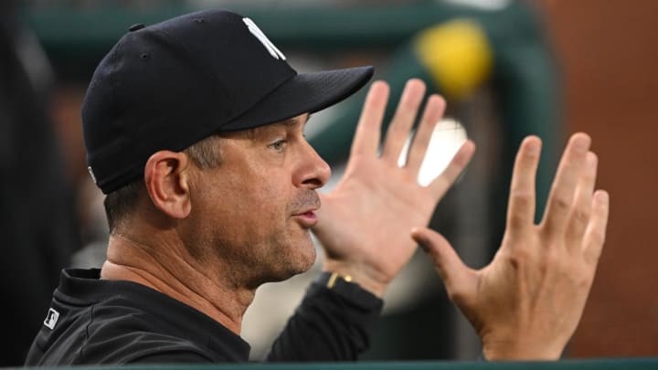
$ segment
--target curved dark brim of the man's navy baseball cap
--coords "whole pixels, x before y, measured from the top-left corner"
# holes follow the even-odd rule
[[[298,74],[219,131],[245,130],[322,111],[360,90],[372,78],[373,70],[357,67]]]

